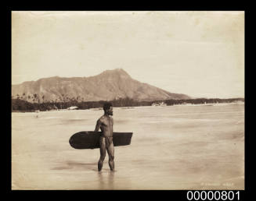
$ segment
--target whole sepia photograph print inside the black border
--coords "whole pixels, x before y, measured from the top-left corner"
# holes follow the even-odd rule
[[[244,190],[243,11],[12,11],[12,190]]]

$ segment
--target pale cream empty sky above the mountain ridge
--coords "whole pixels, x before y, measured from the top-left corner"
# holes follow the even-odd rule
[[[96,76],[244,97],[244,12],[12,12],[12,83]]]

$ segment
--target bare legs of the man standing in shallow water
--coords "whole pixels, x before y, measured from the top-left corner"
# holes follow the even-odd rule
[[[101,169],[103,168],[103,161],[106,157],[106,150],[107,150],[107,153],[109,154],[110,170],[114,171],[114,144],[112,142],[110,143],[110,146],[106,148],[105,140],[106,140],[105,137],[100,137],[99,139],[100,157],[98,162],[98,170],[101,171]]]

